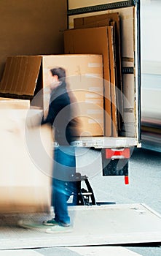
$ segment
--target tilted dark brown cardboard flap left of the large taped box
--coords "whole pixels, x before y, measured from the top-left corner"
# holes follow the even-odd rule
[[[42,56],[9,56],[0,83],[0,93],[33,96]]]

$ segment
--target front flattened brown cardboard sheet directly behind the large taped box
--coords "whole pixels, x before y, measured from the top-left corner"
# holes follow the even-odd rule
[[[107,30],[107,27],[99,27],[64,31],[64,50],[65,53],[98,53],[103,55],[103,78],[106,80],[104,88],[105,135],[111,136],[109,38]]]

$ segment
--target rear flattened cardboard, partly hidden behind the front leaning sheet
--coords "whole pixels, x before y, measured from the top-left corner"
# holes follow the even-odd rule
[[[121,72],[121,48],[119,32],[119,13],[106,13],[103,15],[93,15],[81,18],[74,18],[74,29],[85,29],[99,26],[109,26],[109,59],[110,59],[110,82],[111,82],[111,116],[112,116],[112,136],[117,137],[118,129],[121,127],[121,116],[117,111],[122,108],[122,98],[119,91],[122,91]]]

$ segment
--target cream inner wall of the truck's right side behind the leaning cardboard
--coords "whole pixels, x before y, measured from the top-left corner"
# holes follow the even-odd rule
[[[112,0],[110,2],[115,3],[118,0]],[[107,4],[107,1],[98,0],[93,1],[93,4],[89,0],[78,2],[76,0],[68,0],[68,10],[74,10],[76,8],[97,6],[99,4]],[[97,12],[78,13],[76,15],[68,16],[68,29],[74,29],[74,19],[89,17],[94,15],[105,15],[107,13],[119,12],[120,17],[120,33],[121,33],[121,54],[122,54],[122,68],[135,69],[135,52],[136,52],[136,39],[135,39],[135,9],[134,7],[118,8],[117,10],[106,10]],[[136,127],[136,76],[133,73],[122,74],[122,97],[123,97],[123,110],[122,117],[124,125],[122,126],[121,136],[137,138]]]

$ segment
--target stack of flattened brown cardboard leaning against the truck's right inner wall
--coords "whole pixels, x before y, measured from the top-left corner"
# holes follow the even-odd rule
[[[74,29],[64,32],[65,53],[99,53],[103,55],[105,135],[117,137],[122,104],[119,13],[109,13],[74,19]],[[120,108],[120,106],[119,106]]]

